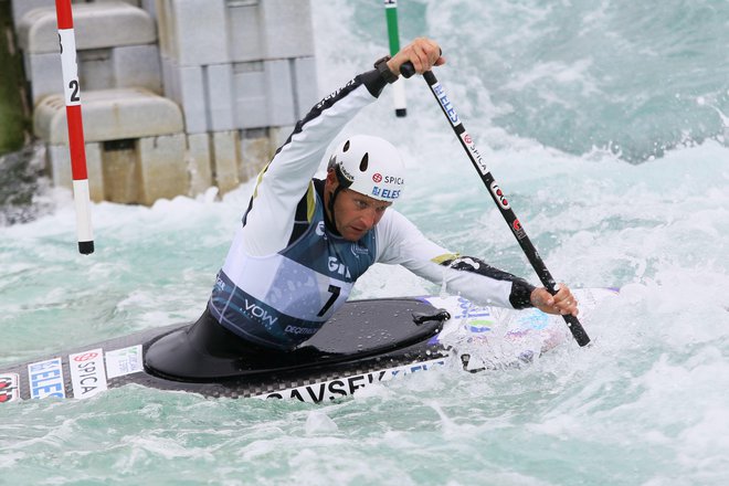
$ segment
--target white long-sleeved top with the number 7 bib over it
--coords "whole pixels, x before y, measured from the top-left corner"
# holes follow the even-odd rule
[[[313,180],[314,173],[342,127],[383,87],[379,73],[370,71],[323,99],[258,175],[209,302],[218,321],[237,336],[265,347],[295,348],[346,302],[357,278],[376,262],[445,282],[450,292],[475,303],[530,305],[531,285],[443,249],[393,209],[358,242],[328,228],[324,182]]]

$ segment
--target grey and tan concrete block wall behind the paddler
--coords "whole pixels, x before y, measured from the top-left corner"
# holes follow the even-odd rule
[[[12,0],[34,133],[71,187],[53,0]],[[151,204],[254,177],[317,101],[308,0],[74,1],[92,198]]]

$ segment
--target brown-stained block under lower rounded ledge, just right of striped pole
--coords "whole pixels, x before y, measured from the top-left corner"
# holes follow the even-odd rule
[[[104,197],[107,201],[122,204],[141,202],[137,141],[114,140],[103,145]]]

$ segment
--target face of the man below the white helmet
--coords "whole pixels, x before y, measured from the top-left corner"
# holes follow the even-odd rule
[[[382,219],[391,205],[392,202],[345,189],[335,201],[335,224],[345,240],[357,241]]]

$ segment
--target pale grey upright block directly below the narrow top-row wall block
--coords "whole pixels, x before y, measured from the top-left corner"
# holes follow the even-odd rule
[[[233,64],[233,92],[236,128],[270,125],[263,62]]]

